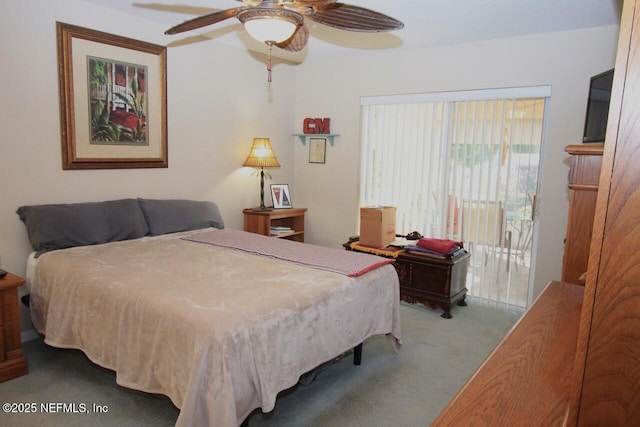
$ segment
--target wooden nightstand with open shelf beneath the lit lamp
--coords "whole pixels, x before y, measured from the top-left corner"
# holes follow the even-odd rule
[[[271,236],[271,227],[286,227],[292,231],[284,231],[274,237],[304,242],[304,214],[306,208],[273,209],[270,211],[254,211],[243,209],[244,231]]]

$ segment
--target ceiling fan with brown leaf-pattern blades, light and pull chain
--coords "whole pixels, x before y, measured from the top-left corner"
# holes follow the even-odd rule
[[[183,22],[165,31],[178,34],[236,17],[254,39],[269,46],[267,70],[271,81],[271,48],[297,52],[309,40],[308,18],[319,24],[347,31],[377,33],[404,27],[397,19],[336,0],[238,0],[244,6],[221,10]]]

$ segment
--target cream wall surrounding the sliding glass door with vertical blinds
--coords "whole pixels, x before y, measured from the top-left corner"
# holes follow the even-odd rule
[[[331,131],[340,135],[334,147],[328,146],[324,165],[309,164],[307,147],[292,142],[292,197],[309,209],[309,240],[340,247],[358,234],[362,96],[551,85],[531,296],[537,295],[561,275],[569,170],[563,149],[582,140],[589,78],[613,66],[617,34],[617,26],[608,26],[300,65],[296,131],[301,132],[305,117],[329,117]]]

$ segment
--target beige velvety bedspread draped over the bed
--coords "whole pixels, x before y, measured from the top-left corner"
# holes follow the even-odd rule
[[[118,384],[169,396],[180,426],[269,412],[301,374],[370,336],[399,348],[391,265],[347,277],[180,239],[192,233],[41,255],[34,326],[116,371]]]

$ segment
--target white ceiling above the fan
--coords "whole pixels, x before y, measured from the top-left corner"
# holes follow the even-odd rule
[[[230,9],[238,0],[82,0],[96,6],[134,15],[164,29],[199,15]],[[411,49],[519,35],[616,25],[622,0],[342,0],[390,15],[404,22],[391,33],[354,33],[306,20],[309,45],[297,54],[274,49],[274,55],[294,61],[322,58],[372,49]],[[237,19],[198,30],[165,36],[166,44],[179,46],[215,39],[264,52]],[[355,50],[354,50],[355,49]],[[279,52],[276,52],[279,51]]]

